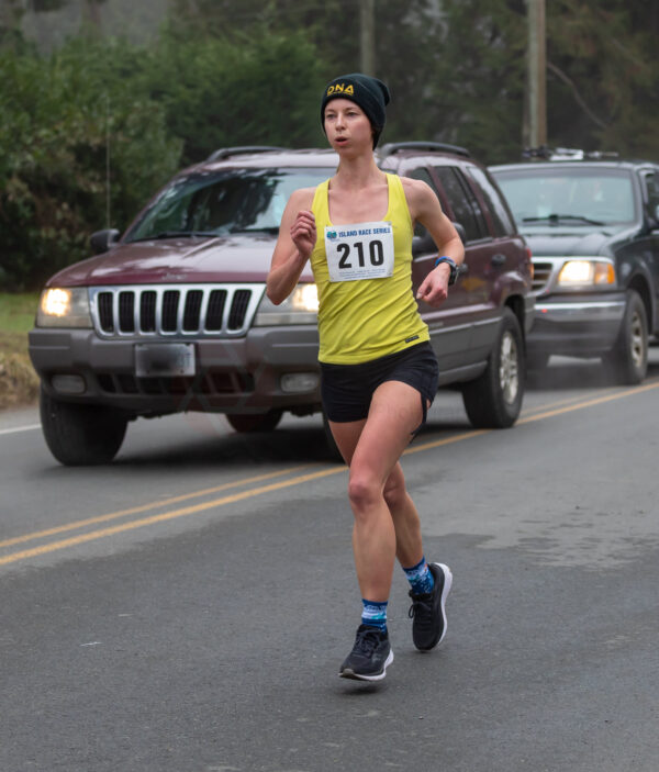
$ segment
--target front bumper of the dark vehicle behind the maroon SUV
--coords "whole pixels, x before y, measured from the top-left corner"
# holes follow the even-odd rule
[[[625,315],[624,292],[536,298],[528,350],[566,356],[610,351]]]

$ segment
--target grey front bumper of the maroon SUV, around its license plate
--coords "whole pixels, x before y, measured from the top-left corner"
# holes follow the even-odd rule
[[[35,328],[30,333],[30,357],[44,388],[57,399],[110,405],[134,415],[320,410],[315,325],[253,327],[242,338],[186,339],[182,343],[193,343],[196,359],[196,373],[186,377],[138,378],[135,346],[144,343],[137,336],[102,339],[92,329]],[[308,379],[306,390],[290,393],[281,379],[292,373],[319,379],[315,384]],[[54,377],[71,374],[85,380],[83,393],[66,394],[53,385]]]

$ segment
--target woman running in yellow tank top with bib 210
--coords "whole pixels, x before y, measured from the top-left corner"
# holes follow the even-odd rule
[[[321,121],[338,168],[317,188],[291,194],[267,282],[268,298],[281,303],[311,260],[323,409],[349,466],[362,598],[361,624],[339,675],[366,681],[383,679],[393,661],[387,603],[394,559],[410,581],[417,649],[429,650],[444,638],[453,581],[447,566],[426,562],[399,459],[426,419],[438,378],[412,292],[414,224],[427,228],[440,256],[418,288],[424,303],[446,299],[465,251],[429,186],[376,165],[389,99],[382,81],[361,74],[327,85]]]

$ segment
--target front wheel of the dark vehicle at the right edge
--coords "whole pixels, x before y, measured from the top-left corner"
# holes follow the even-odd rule
[[[627,290],[627,303],[621,334],[603,361],[615,380],[624,385],[636,385],[648,371],[648,317],[640,295]]]

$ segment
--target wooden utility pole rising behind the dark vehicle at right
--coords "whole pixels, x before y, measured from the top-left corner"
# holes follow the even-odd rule
[[[547,33],[545,0],[526,0],[528,16],[528,136],[530,147],[547,144]]]

